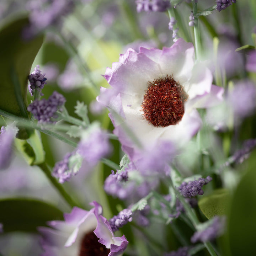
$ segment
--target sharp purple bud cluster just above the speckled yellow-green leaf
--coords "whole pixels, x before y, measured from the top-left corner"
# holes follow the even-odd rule
[[[182,182],[178,190],[184,197],[195,197],[197,195],[202,196],[204,193],[202,190],[203,185],[209,183],[212,180],[210,176],[206,178],[199,178],[198,180]]]

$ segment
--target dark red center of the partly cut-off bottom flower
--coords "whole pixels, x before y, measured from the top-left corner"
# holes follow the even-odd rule
[[[80,245],[79,256],[107,256],[110,249],[98,242],[93,231],[84,235]]]

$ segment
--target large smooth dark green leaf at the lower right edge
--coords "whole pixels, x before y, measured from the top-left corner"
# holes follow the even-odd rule
[[[228,215],[228,238],[232,256],[256,255],[256,152],[234,192]]]

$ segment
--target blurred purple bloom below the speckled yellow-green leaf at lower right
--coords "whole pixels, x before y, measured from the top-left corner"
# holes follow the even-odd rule
[[[195,243],[197,241],[207,242],[209,240],[214,240],[218,236],[222,235],[225,230],[226,218],[224,216],[217,216],[212,219],[207,228],[197,231],[191,237],[191,242]]]

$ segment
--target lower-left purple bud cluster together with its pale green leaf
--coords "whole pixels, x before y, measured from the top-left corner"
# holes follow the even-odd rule
[[[78,173],[81,164],[82,158],[76,151],[67,153],[63,160],[55,164],[52,176],[58,178],[60,183],[69,181],[72,176]]]

